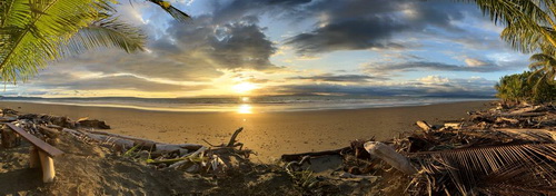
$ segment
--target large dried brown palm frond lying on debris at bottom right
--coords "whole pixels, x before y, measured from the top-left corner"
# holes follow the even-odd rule
[[[555,193],[556,144],[419,153],[413,192],[447,195]]]

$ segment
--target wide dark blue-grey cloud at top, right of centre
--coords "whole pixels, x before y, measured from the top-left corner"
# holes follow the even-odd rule
[[[322,0],[308,6],[305,14],[324,16],[314,30],[286,40],[300,55],[336,50],[403,49],[395,35],[431,31],[465,32],[451,21],[464,19],[474,7],[455,2],[409,0]],[[428,33],[428,32],[427,32]]]

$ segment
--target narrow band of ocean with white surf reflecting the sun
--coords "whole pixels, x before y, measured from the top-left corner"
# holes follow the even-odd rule
[[[133,108],[158,111],[191,112],[277,112],[329,109],[423,106],[441,102],[494,100],[494,98],[454,97],[369,97],[369,96],[265,96],[226,98],[39,98],[1,97],[0,101],[23,101],[76,106]]]

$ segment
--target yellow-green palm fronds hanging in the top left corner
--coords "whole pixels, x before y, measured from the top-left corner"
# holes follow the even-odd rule
[[[188,14],[167,1],[148,0],[173,18]],[[146,36],[116,17],[113,0],[0,1],[0,77],[17,82],[61,58],[99,47],[145,49]]]

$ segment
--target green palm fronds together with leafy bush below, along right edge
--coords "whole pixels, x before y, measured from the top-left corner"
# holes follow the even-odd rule
[[[469,1],[469,0],[467,0]],[[518,51],[529,53],[533,72],[505,76],[496,85],[505,101],[546,102],[555,99],[556,1],[555,0],[473,0],[483,13],[505,26],[502,39]]]

